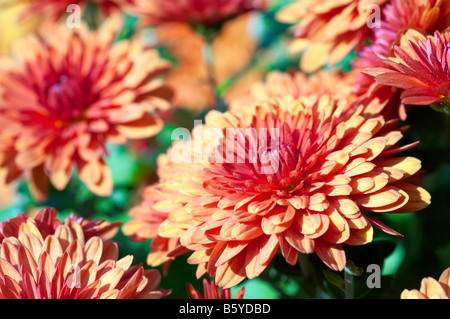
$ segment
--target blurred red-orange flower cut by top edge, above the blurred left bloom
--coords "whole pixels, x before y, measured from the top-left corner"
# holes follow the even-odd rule
[[[78,5],[81,10],[84,10],[89,2],[95,3],[104,16],[120,12],[119,0],[26,0],[23,2],[28,3],[28,6],[23,11],[22,18],[45,14],[56,21],[67,14],[70,5]]]

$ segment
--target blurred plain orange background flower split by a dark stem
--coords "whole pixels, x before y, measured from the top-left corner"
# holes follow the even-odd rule
[[[174,105],[203,110],[215,105],[215,85],[241,72],[252,60],[258,41],[249,32],[252,15],[228,21],[213,39],[212,66],[205,57],[206,39],[184,23],[156,27],[156,46],[166,49],[174,67],[167,83],[174,88]]]

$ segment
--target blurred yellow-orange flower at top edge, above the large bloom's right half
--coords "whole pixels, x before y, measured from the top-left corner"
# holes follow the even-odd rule
[[[301,69],[313,72],[334,65],[353,49],[360,51],[373,37],[368,26],[373,10],[387,0],[297,0],[283,8],[277,18],[296,23],[291,50],[304,51]]]

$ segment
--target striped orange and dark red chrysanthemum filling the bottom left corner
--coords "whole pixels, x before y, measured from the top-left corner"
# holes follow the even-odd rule
[[[71,217],[61,223],[55,214],[45,209],[35,218],[19,215],[1,224],[1,299],[139,299],[169,293],[158,289],[157,270],[132,267],[132,256],[118,260],[117,244],[91,227],[97,221]]]

